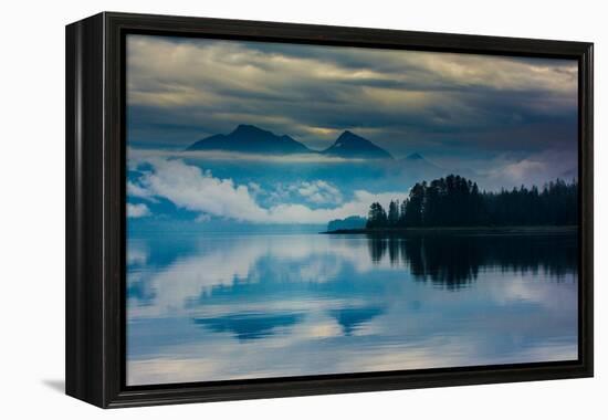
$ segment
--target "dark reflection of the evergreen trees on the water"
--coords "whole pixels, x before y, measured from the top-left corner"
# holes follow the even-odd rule
[[[410,235],[369,234],[367,246],[375,264],[410,267],[416,280],[455,290],[476,280],[480,269],[537,273],[559,280],[577,270],[575,234],[556,235]]]

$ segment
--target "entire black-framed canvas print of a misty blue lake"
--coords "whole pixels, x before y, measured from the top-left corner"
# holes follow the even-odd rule
[[[593,375],[593,44],[66,28],[66,392]]]

